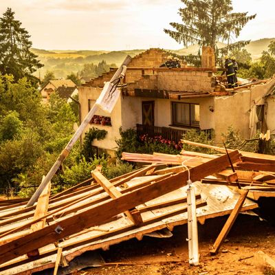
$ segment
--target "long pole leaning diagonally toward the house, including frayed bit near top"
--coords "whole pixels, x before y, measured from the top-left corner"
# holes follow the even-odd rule
[[[69,155],[69,152],[71,151],[72,147],[74,146],[74,144],[76,143],[76,141],[78,140],[80,135],[83,133],[86,126],[91,121],[91,118],[94,116],[94,114],[98,110],[98,107],[102,106],[102,103],[107,104],[109,101],[112,101],[111,104],[112,104],[112,107],[113,107],[113,105],[115,103],[113,98],[116,98],[116,99],[118,98],[118,96],[113,96],[113,94],[115,94],[115,92],[112,89],[113,88],[113,82],[118,80],[119,78],[124,77],[126,66],[130,63],[130,61],[131,61],[131,56],[126,56],[126,58],[123,61],[122,65],[115,72],[115,74],[111,78],[110,82],[107,83],[107,85],[104,86],[104,91],[102,91],[102,93],[100,94],[100,102],[98,102],[98,100],[97,100],[97,102],[91,108],[89,113],[86,115],[85,119],[83,120],[83,122],[78,127],[76,133],[74,133],[73,137],[68,142],[68,144],[65,146],[64,150],[61,152],[58,159],[56,159],[56,162],[54,163],[54,165],[52,166],[50,171],[47,173],[45,179],[43,179],[43,181],[41,182],[39,188],[36,189],[36,191],[34,192],[34,195],[32,195],[32,197],[30,198],[30,200],[28,201],[28,203],[25,207],[29,207],[29,206],[34,205],[34,203],[39,198],[39,195],[41,194],[41,192],[43,191],[45,186],[47,186],[47,183],[52,179],[52,177],[54,177],[54,174],[58,170],[59,166],[61,166],[64,159]],[[102,96],[103,92],[104,92],[104,96]]]

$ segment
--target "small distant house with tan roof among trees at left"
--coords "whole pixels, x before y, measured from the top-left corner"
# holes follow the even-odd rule
[[[54,92],[56,92],[56,90],[58,88],[74,88],[74,91],[75,93],[77,93],[75,91],[76,89],[76,84],[70,80],[70,79],[57,79],[57,80],[50,80],[44,87],[41,88],[41,95],[42,95],[42,100],[43,102],[47,103],[49,100],[50,100],[50,95]],[[62,91],[61,94],[66,94],[69,90],[67,91]],[[69,98],[69,97],[68,97]]]

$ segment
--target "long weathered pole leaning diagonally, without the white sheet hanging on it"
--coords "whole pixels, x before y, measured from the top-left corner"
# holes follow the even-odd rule
[[[127,66],[130,63],[130,61],[131,61],[131,56],[126,56],[122,65],[118,68],[118,70],[115,72],[115,74],[113,75],[113,77],[110,80],[110,85],[109,85],[110,89],[113,87],[113,85],[112,85],[113,81],[120,78],[122,72],[124,72],[124,67]],[[94,106],[91,108],[89,113],[86,115],[86,118],[83,120],[83,122],[78,127],[76,133],[74,133],[71,140],[69,140],[68,144],[65,146],[64,150],[61,152],[58,159],[56,159],[56,162],[54,163],[54,165],[52,166],[50,171],[47,173],[45,179],[42,181],[39,188],[36,189],[36,191],[34,192],[34,195],[32,195],[32,197],[30,198],[30,201],[28,201],[28,203],[25,207],[34,205],[36,200],[39,198],[39,195],[41,194],[41,192],[47,185],[47,183],[52,179],[52,177],[54,177],[59,166],[61,166],[64,159],[69,155],[69,152],[72,150],[72,147],[74,146],[74,144],[76,143],[76,141],[78,140],[80,135],[83,133],[86,126],[89,124],[89,122],[91,121],[91,118],[94,116],[94,113],[96,113],[97,110],[98,110],[98,105],[94,104]]]

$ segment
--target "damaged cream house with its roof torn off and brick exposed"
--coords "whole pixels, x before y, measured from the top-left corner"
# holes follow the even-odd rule
[[[256,129],[275,129],[275,122],[266,115],[270,107],[265,106],[267,102],[273,106],[272,95],[264,100],[274,87],[274,79],[236,90],[222,89],[210,47],[203,47],[201,67],[159,67],[169,54],[150,49],[132,58],[124,78],[126,87],[122,88],[112,113],[97,111],[87,126],[86,131],[96,126],[108,132],[104,140],[93,142],[99,151],[111,154],[115,150],[120,127],[135,128],[139,135],[162,135],[176,142],[189,129],[205,131],[209,136],[214,131],[216,142],[221,142],[228,126],[239,130],[245,138],[251,137]],[[81,120],[115,70],[111,68],[110,72],[78,87]]]

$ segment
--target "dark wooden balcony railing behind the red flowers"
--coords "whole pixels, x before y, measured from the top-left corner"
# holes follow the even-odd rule
[[[162,135],[162,137],[166,140],[172,140],[174,142],[179,142],[182,139],[182,135],[186,133],[188,130],[179,130],[173,129],[170,127],[159,127],[159,126],[148,126],[137,124],[137,136],[147,134],[148,137],[155,137]],[[212,129],[206,130],[197,130],[198,133],[205,132],[208,135],[208,139],[210,140],[212,137]]]

